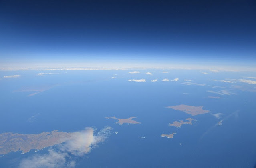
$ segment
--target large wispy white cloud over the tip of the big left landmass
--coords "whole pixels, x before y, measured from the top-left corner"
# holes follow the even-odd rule
[[[106,127],[96,135],[93,128],[85,128],[80,132],[70,134],[71,138],[63,144],[56,145],[56,150],[49,150],[47,154],[37,154],[20,162],[21,168],[62,168],[75,167],[77,157],[87,154],[97,144],[103,142],[110,134],[112,128]]]

